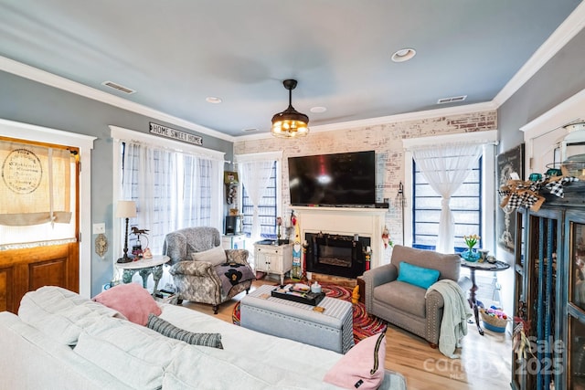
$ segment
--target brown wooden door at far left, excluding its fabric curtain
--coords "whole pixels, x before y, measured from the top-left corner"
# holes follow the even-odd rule
[[[0,140],[23,142],[4,137]],[[18,237],[16,243],[4,242],[0,245],[0,311],[14,313],[17,313],[20,300],[27,291],[42,286],[59,286],[75,292],[80,290],[79,150],[39,142],[23,144],[24,147],[31,144],[69,150],[72,155],[70,169],[74,172],[71,177],[71,193],[74,194],[71,211],[74,217],[69,222],[69,237],[43,239],[35,234],[27,235],[27,227],[19,227],[23,229],[23,237]]]

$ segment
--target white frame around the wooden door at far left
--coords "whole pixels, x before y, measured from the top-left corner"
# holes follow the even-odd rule
[[[91,295],[91,150],[97,137],[0,119],[0,135],[80,149],[80,296]]]

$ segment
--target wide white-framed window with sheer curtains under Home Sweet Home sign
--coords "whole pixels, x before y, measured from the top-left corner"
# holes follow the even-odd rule
[[[224,153],[112,126],[116,186],[120,200],[136,202],[130,227],[148,230],[142,248],[163,253],[167,233],[183,227],[216,227],[224,214]],[[114,250],[124,243],[123,221],[114,221]],[[132,250],[137,236],[130,233]]]

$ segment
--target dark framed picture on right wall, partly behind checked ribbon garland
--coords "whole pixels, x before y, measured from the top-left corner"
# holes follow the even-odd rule
[[[514,149],[498,154],[496,174],[496,188],[507,184],[508,180],[517,176],[524,180],[524,143]],[[501,199],[500,199],[501,200]],[[512,208],[496,207],[495,231],[498,248],[513,253],[516,243],[516,212]]]

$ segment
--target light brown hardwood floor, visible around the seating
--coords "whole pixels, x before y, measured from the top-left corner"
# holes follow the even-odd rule
[[[256,280],[252,289],[264,283]],[[242,292],[219,306],[218,319],[231,322],[233,308],[244,296]],[[188,301],[183,305],[214,315],[210,305]],[[463,346],[458,350],[461,359],[449,359],[422,338],[392,325],[388,326],[386,335],[385,366],[404,375],[409,390],[510,388],[512,340],[509,332],[485,331],[481,336],[475,324],[469,324]]]

